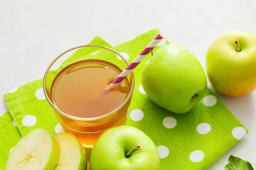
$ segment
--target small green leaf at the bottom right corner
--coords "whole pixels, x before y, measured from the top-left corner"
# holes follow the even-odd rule
[[[225,170],[253,170],[253,167],[250,162],[231,155],[228,159],[228,164],[225,166]]]

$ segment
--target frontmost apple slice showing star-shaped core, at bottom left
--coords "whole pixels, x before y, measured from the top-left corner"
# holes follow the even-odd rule
[[[58,157],[56,139],[45,129],[35,129],[13,148],[6,170],[54,170]]]

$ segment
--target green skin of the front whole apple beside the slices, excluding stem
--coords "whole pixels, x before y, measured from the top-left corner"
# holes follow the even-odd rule
[[[125,154],[140,145],[130,157]],[[159,170],[154,142],[141,130],[123,125],[106,130],[93,146],[90,170]]]

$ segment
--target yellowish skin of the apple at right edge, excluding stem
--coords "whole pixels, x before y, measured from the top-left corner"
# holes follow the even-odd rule
[[[235,41],[239,42],[240,52]],[[245,31],[229,31],[218,37],[206,55],[207,76],[226,96],[241,96],[256,88],[256,37]]]

